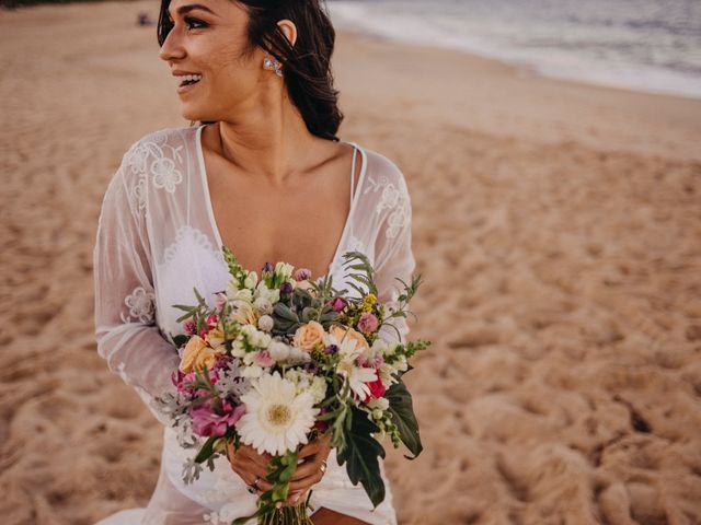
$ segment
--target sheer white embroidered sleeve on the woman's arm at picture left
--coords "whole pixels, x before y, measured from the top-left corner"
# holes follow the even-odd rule
[[[150,401],[174,392],[171,373],[179,357],[156,326],[150,249],[146,233],[143,178],[129,184],[128,153],[105,192],[93,252],[97,353],[112,372]]]

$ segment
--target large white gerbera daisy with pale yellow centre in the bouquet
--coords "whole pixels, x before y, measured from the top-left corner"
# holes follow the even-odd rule
[[[241,396],[246,413],[237,422],[241,441],[258,454],[283,455],[307,444],[307,434],[319,409],[307,392],[298,394],[295,385],[278,372],[264,374],[253,388]]]

